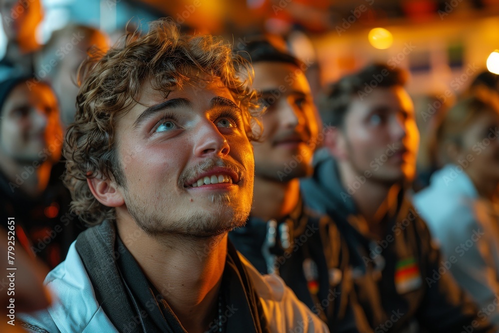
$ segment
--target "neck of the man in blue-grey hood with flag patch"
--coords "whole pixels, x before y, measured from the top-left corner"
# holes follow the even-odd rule
[[[364,177],[355,173],[353,168],[346,163],[338,163],[340,180],[343,188],[348,189],[349,186],[359,183],[356,178]],[[365,178],[365,177],[364,177]],[[400,186],[393,183],[385,183],[381,181],[367,178],[360,188],[356,189],[352,194],[352,199],[359,213],[367,222],[371,233],[377,236],[384,236],[385,229],[380,225],[383,217],[388,209],[397,203],[397,193]],[[395,195],[392,195],[395,193]]]

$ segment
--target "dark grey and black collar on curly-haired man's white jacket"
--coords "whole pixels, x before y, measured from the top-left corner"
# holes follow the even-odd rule
[[[118,331],[158,332],[159,327],[161,332],[185,333],[166,301],[154,302],[160,293],[149,283],[128,249],[116,239],[113,223],[104,221],[81,233],[76,250],[97,301]],[[227,330],[245,327],[247,332],[268,332],[258,295],[230,242],[224,279],[224,303],[241,309],[226,319]]]

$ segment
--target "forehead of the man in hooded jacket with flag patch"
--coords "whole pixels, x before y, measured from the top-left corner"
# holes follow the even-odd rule
[[[349,113],[366,113],[375,110],[387,112],[414,112],[414,104],[402,86],[377,87],[367,96],[353,95]]]

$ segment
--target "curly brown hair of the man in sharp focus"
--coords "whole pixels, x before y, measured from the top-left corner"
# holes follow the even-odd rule
[[[117,45],[103,55],[94,53],[80,66],[75,121],[64,142],[64,183],[71,191],[71,209],[89,226],[116,218],[113,207],[92,195],[87,178],[114,177],[118,185],[126,185],[114,128],[117,116],[138,103],[146,80],[166,98],[186,83],[202,85],[198,77],[218,78],[240,102],[249,139],[256,139],[258,132],[252,131],[260,112],[251,88],[253,70],[228,42],[211,35],[181,34],[173,20],[162,18],[150,22],[146,34],[127,33]]]

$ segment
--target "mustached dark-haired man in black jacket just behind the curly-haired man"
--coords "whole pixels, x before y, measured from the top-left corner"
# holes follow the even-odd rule
[[[229,237],[260,273],[279,275],[332,332],[358,332],[348,304],[350,281],[343,279],[344,243],[327,216],[304,207],[299,191],[299,178],[311,175],[318,136],[306,66],[266,39],[243,51],[266,111],[261,139],[253,142],[250,218]]]

